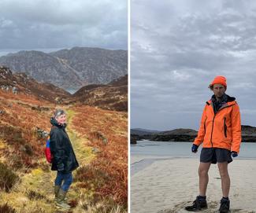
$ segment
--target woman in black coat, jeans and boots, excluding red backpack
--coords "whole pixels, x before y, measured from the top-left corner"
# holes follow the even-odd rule
[[[69,209],[69,204],[65,203],[65,196],[72,184],[72,171],[79,167],[79,164],[65,131],[66,113],[62,109],[57,109],[50,123],[50,152],[54,157],[51,170],[57,171],[54,185],[55,201],[57,207]]]

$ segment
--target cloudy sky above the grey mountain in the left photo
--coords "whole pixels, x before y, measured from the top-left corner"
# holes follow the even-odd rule
[[[0,54],[128,49],[127,0],[0,0]]]

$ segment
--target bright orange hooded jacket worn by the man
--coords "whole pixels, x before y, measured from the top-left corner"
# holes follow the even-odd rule
[[[203,148],[223,148],[239,153],[240,143],[241,120],[236,101],[227,102],[215,115],[212,101],[207,101],[194,144],[202,144]]]

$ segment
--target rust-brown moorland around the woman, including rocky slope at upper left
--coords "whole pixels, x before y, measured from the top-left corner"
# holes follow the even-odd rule
[[[47,87],[34,90],[36,81],[6,68],[0,75],[0,212],[58,212],[52,188],[56,174],[44,157],[44,135],[55,108],[68,112],[67,130],[80,163],[68,194],[70,212],[127,212],[127,112],[61,105],[52,101],[55,87],[39,98]]]

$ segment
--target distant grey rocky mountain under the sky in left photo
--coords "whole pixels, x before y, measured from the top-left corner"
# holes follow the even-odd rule
[[[65,90],[78,90],[88,84],[106,84],[126,75],[128,53],[87,47],[54,53],[20,51],[0,57],[0,64],[13,72],[24,72],[39,82],[52,83]]]

